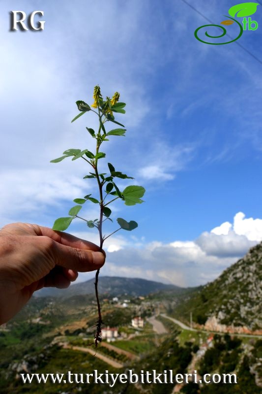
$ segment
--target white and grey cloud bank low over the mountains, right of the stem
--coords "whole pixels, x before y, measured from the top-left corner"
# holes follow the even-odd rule
[[[261,222],[261,219],[245,219],[239,212],[233,224],[223,223],[193,241],[176,240],[168,244],[146,243],[144,239],[132,243],[130,239],[115,236],[107,247],[111,253],[101,274],[140,277],[182,287],[204,285],[262,240]],[[236,233],[240,229],[243,234]],[[92,274],[82,273],[80,280],[90,277]]]

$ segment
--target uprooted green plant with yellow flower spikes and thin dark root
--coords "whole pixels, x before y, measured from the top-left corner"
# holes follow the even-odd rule
[[[141,197],[144,196],[145,189],[142,186],[131,185],[131,186],[127,186],[121,192],[116,185],[116,178],[120,178],[120,179],[134,179],[134,178],[132,178],[131,176],[127,176],[126,174],[123,174],[118,170],[116,171],[115,167],[111,163],[108,163],[108,168],[109,168],[108,174],[99,173],[98,161],[106,157],[106,154],[99,150],[102,143],[109,141],[109,137],[111,136],[125,135],[126,129],[124,129],[124,125],[117,122],[115,120],[115,116],[113,115],[113,113],[124,114],[125,103],[118,101],[119,100],[118,92],[116,92],[112,98],[106,97],[106,99],[103,99],[99,86],[95,86],[94,88],[93,99],[94,99],[94,103],[91,106],[89,106],[85,101],[82,100],[76,101],[80,113],[72,120],[72,122],[74,122],[80,116],[86,114],[89,111],[94,112],[98,116],[98,131],[95,132],[91,128],[88,127],[86,128],[89,134],[91,135],[91,137],[96,139],[95,153],[92,153],[88,149],[84,149],[84,150],[67,149],[66,151],[63,152],[63,156],[59,157],[58,159],[52,160],[51,163],[58,163],[69,157],[72,157],[72,161],[80,158],[83,159],[92,168],[92,172],[89,172],[88,175],[84,176],[84,179],[92,179],[92,178],[96,179],[99,197],[95,198],[92,197],[91,194],[88,194],[83,198],[75,198],[74,202],[77,205],[73,206],[69,210],[68,212],[69,217],[58,218],[54,223],[53,230],[64,231],[68,228],[68,226],[74,219],[77,218],[81,219],[86,222],[89,228],[96,228],[98,230],[99,238],[100,238],[100,250],[102,250],[104,241],[107,238],[109,238],[111,235],[115,234],[116,231],[121,229],[131,231],[137,228],[138,226],[138,224],[133,220],[127,222],[122,218],[117,218],[116,221],[120,227],[114,230],[113,232],[111,232],[109,235],[103,235],[102,233],[103,223],[107,220],[113,222],[113,220],[110,218],[112,210],[109,208],[109,205],[118,198],[123,200],[125,205],[140,204],[143,202]],[[106,131],[105,124],[107,124],[107,122],[108,124],[109,122],[115,123],[116,125],[118,125],[118,127],[120,126],[121,128]],[[106,202],[106,198],[110,198],[110,196],[112,196],[111,197],[112,199]],[[79,211],[82,209],[82,206],[84,203],[86,203],[86,201],[90,201],[94,204],[99,204],[100,206],[99,217],[97,219],[87,220],[78,215]],[[94,342],[93,342],[95,348],[97,348],[98,342],[102,340],[101,326],[103,324],[101,307],[100,307],[99,296],[98,296],[98,275],[99,275],[99,269],[96,271],[95,283],[94,283],[95,295],[97,301],[97,310],[98,310],[98,321],[96,322],[96,326],[95,326],[96,332],[94,335]]]

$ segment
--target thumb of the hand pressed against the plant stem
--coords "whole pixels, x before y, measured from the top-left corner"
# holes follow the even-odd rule
[[[54,242],[54,258],[57,265],[79,272],[95,271],[105,263],[106,254],[92,250],[72,248]]]

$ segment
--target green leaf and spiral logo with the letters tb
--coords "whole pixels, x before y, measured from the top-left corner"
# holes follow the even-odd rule
[[[259,27],[258,22],[252,20],[252,18],[250,17],[250,15],[255,14],[255,12],[257,11],[257,6],[258,5],[259,5],[259,3],[251,3],[251,2],[236,4],[236,5],[233,5],[233,7],[231,7],[229,9],[229,15],[230,16],[224,15],[227,18],[230,18],[230,19],[226,19],[225,21],[220,22],[220,25],[230,26],[230,25],[233,25],[233,23],[236,23],[238,25],[238,27],[239,27],[239,34],[237,35],[236,38],[230,37],[230,38],[232,38],[231,41],[227,41],[227,42],[207,42],[207,41],[204,41],[205,37],[202,37],[202,38],[204,38],[204,39],[202,39],[199,36],[199,33],[200,33],[201,29],[208,28],[210,26],[215,26],[215,27],[218,27],[218,28],[222,29],[223,33],[220,34],[220,35],[210,35],[210,34],[207,33],[207,31],[205,31],[205,35],[208,38],[218,39],[218,38],[224,37],[224,35],[226,35],[226,34],[229,35],[229,33],[227,33],[227,30],[223,26],[220,26],[220,25],[204,25],[204,26],[200,26],[195,31],[195,37],[199,41],[204,42],[204,44],[210,44],[210,45],[230,44],[231,42],[234,42],[234,41],[238,40],[238,38],[240,38],[241,35],[243,34],[243,31],[246,31],[246,30],[254,31],[254,30],[258,29],[258,27]],[[234,19],[235,17],[243,18],[243,20],[242,21],[238,21],[238,20]],[[248,18],[246,18],[246,17],[248,17]]]

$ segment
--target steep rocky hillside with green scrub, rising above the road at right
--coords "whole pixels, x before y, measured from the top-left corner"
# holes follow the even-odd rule
[[[215,281],[180,298],[174,316],[189,322],[190,312],[208,329],[262,332],[262,243]]]

